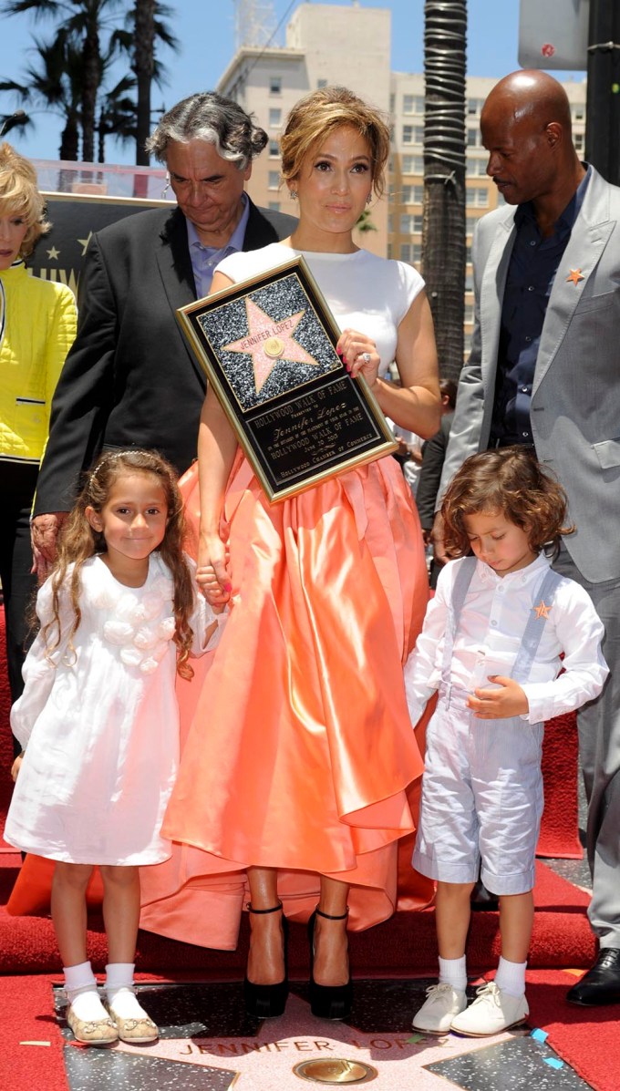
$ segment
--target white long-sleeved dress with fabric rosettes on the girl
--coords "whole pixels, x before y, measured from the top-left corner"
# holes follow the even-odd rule
[[[60,591],[62,639],[53,664],[43,638],[52,616],[50,579],[37,597],[41,632],[11,711],[27,750],[4,837],[23,852],[67,863],[155,864],[170,855],[159,829],[179,757],[172,577],[153,553],[145,584],[126,587],[99,556],[91,558],[70,647],[70,573]],[[194,654],[206,650],[214,621],[196,594]]]

